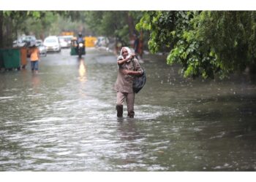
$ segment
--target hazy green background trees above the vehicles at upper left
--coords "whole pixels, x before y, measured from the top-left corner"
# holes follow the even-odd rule
[[[112,36],[129,44],[142,12],[128,11],[3,11],[4,45],[23,33],[37,38],[58,35],[61,31],[86,31],[86,35]],[[87,26],[89,25],[89,26]]]

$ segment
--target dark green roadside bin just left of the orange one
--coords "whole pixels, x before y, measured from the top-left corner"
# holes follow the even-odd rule
[[[20,50],[4,49],[2,54],[4,58],[4,68],[20,68]]]

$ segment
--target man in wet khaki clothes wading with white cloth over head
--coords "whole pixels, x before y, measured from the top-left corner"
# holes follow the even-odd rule
[[[122,47],[120,55],[117,58],[118,74],[114,89],[117,92],[116,95],[116,111],[117,116],[123,116],[123,104],[124,99],[127,102],[127,116],[133,118],[135,115],[134,103],[135,103],[135,92],[133,92],[132,84],[135,75],[143,74],[143,69],[132,55],[129,47]]]

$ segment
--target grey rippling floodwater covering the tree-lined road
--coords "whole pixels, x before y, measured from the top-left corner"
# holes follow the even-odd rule
[[[256,84],[182,79],[145,57],[135,119],[116,119],[116,56],[48,54],[0,73],[0,171],[256,170]],[[126,106],[124,116],[127,115]]]

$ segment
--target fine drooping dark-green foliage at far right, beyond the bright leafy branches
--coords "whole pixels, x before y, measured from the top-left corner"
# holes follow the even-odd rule
[[[255,12],[202,12],[197,39],[213,50],[222,75],[243,71],[255,63]]]

